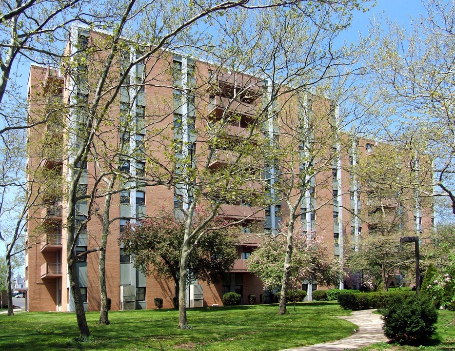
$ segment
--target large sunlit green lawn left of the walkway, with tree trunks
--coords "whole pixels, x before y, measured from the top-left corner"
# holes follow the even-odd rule
[[[279,316],[277,305],[208,307],[188,310],[190,330],[178,330],[175,310],[110,312],[108,326],[99,326],[98,312],[88,312],[93,339],[75,341],[74,313],[0,314],[0,350],[173,350],[277,351],[341,339],[354,325],[335,302],[297,304]]]

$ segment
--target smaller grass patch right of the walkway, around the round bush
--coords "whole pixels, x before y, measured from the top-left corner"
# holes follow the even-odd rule
[[[360,348],[359,351],[451,351],[455,350],[455,326],[450,326],[450,322],[454,318],[454,313],[451,311],[439,311],[436,325],[436,334],[432,340],[426,345],[419,347],[415,346],[399,346],[390,345],[388,343],[374,344],[372,346]]]

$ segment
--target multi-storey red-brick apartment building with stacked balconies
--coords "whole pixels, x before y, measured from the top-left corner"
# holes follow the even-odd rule
[[[87,52],[96,47],[98,50],[90,55],[102,62],[105,52],[97,44],[103,36],[103,33],[74,27],[66,47],[70,59],[62,67],[31,66],[30,69],[27,87],[30,123],[43,116],[47,116],[48,121],[29,132],[28,169],[29,175],[37,180],[32,191],[36,192],[38,199],[35,209],[29,212],[27,228],[29,249],[25,257],[25,284],[29,311],[74,310],[66,267],[68,204],[65,184],[68,162],[78,148],[83,106],[92,98],[91,79],[95,76],[92,69],[96,67],[96,64],[81,65],[78,58],[83,55],[87,59]],[[119,77],[122,77],[123,67],[130,65],[136,54],[132,47],[122,51],[113,63],[113,72],[109,76],[112,86],[116,86]],[[144,276],[134,268],[118,242],[122,226],[127,222],[134,223],[141,217],[153,216],[161,208],[174,209],[178,216],[192,200],[191,192],[182,182],[172,186],[149,186],[146,182],[139,182],[138,177],[147,176],[153,169],[151,159],[159,159],[161,164],[167,164],[168,169],[174,170],[179,159],[190,159],[192,166],[194,164],[198,169],[206,167],[208,172],[232,166],[233,162],[245,162],[241,165],[245,170],[253,163],[260,163],[258,157],[253,161],[239,161],[228,147],[217,149],[215,156],[207,158],[211,150],[207,146],[211,143],[207,131],[217,123],[222,125],[226,140],[250,138],[251,143],[258,144],[258,140],[267,137],[274,139],[280,133],[277,125],[281,124],[281,134],[284,135],[283,131],[291,128],[292,124],[287,120],[295,121],[299,114],[311,114],[317,121],[313,125],[317,127],[308,133],[308,137],[315,145],[320,141],[321,156],[312,160],[313,163],[309,161],[311,168],[318,172],[308,177],[309,186],[303,189],[301,223],[306,230],[316,230],[318,235],[323,236],[332,257],[343,259],[344,250],[358,249],[360,236],[368,232],[368,227],[362,225],[357,216],[365,198],[358,191],[356,179],[349,170],[358,158],[374,154],[376,145],[363,139],[352,141],[346,135],[336,142],[333,141],[335,138],[327,138],[324,133],[330,129],[330,133],[334,134],[332,122],[336,121],[330,101],[305,95],[302,98],[305,108],[302,110],[302,103],[298,101],[301,97],[284,94],[284,98],[278,99],[279,111],[270,105],[272,107],[267,107],[268,111],[275,108],[274,111],[278,112],[264,115],[262,106],[271,100],[270,82],[266,79],[215,69],[207,62],[166,51],[134,64],[123,82],[118,96],[106,111],[105,120],[99,127],[100,136],[95,142],[97,152],[104,155],[101,157],[105,157],[106,164],[121,163],[119,170],[131,175],[120,180],[127,190],[114,193],[110,208],[110,218],[119,218],[110,225],[105,250],[107,293],[113,310],[151,309],[154,308],[155,297],[163,298],[163,307],[172,307],[174,282],[153,274]],[[108,98],[109,95],[106,95],[104,100]],[[226,116],[234,117],[229,123],[224,123]],[[260,123],[257,122],[258,116],[263,118]],[[124,119],[127,117],[131,120],[126,122],[128,128],[125,129]],[[286,135],[292,136],[292,133]],[[280,138],[283,142],[286,136]],[[349,146],[342,146],[343,143]],[[153,157],[148,155],[151,151]],[[295,144],[295,154],[298,153],[310,153],[308,146],[301,142]],[[100,169],[93,160],[94,156],[91,156],[79,165],[82,194],[91,194],[92,189],[99,186],[95,182]],[[298,173],[308,166],[307,162],[292,167]],[[270,172],[270,165],[266,162],[261,167],[269,167],[264,171]],[[246,182],[243,188],[249,189],[249,195],[261,192],[257,181]],[[298,191],[299,186],[292,194],[296,195]],[[207,285],[193,280],[187,294],[188,306],[221,304],[223,293],[229,291],[240,293],[245,304],[250,294],[258,297],[265,293],[261,281],[248,273],[245,259],[260,244],[260,237],[255,237],[253,232],[275,231],[289,212],[282,201],[267,207],[251,206],[246,202],[239,199],[223,201],[220,205],[219,213],[228,220],[247,217],[244,229],[239,233],[243,240],[238,246],[238,259],[232,271],[219,284]],[[99,213],[103,203],[102,198],[96,198],[93,203],[90,199],[77,203],[79,217],[76,220],[86,221],[86,225],[81,228],[76,252],[85,252],[100,245]],[[415,206],[410,221],[414,222],[413,229],[416,231],[431,228],[431,213]],[[81,256],[77,266],[86,309],[99,310],[99,253]],[[310,284],[309,289],[311,287]]]

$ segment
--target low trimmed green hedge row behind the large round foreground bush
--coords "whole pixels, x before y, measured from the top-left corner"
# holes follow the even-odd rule
[[[338,304],[345,310],[368,310],[386,308],[394,299],[415,295],[411,291],[395,292],[362,292],[362,293],[340,293]]]

